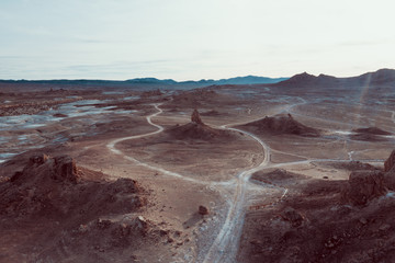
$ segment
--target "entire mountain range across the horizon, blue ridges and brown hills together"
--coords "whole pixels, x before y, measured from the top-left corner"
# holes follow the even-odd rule
[[[264,87],[282,88],[353,88],[363,85],[395,87],[395,70],[380,69],[358,77],[336,78],[327,75],[313,76],[306,72],[295,75],[292,78],[266,78],[266,77],[237,77],[221,80],[176,81],[172,79],[159,80],[156,78],[139,78],[129,80],[0,80],[1,87],[41,87],[41,88],[136,88],[140,90],[153,89],[194,89],[208,85],[225,84],[258,84]]]

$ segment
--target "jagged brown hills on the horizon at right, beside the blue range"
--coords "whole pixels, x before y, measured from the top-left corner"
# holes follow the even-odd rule
[[[353,88],[362,85],[395,87],[395,70],[380,69],[374,72],[368,72],[350,78],[336,78],[326,75],[319,75],[316,77],[304,72],[271,85],[284,88]]]

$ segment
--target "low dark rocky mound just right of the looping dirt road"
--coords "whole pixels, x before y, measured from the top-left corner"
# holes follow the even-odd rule
[[[295,121],[291,114],[281,114],[272,117],[264,117],[252,123],[242,125],[241,127],[253,128],[258,133],[271,134],[271,135],[298,135],[317,137],[319,130],[305,126]]]

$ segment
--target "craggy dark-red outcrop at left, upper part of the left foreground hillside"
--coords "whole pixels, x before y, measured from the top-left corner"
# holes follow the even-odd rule
[[[0,214],[15,220],[30,216],[81,220],[131,213],[144,204],[135,181],[88,181],[82,179],[87,173],[94,171],[78,168],[69,156],[34,156],[22,171],[0,184]]]

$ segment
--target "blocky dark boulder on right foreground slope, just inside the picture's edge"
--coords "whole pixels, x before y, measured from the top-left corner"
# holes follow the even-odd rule
[[[381,171],[353,171],[343,191],[342,198],[353,205],[365,205],[386,193],[384,174]]]

